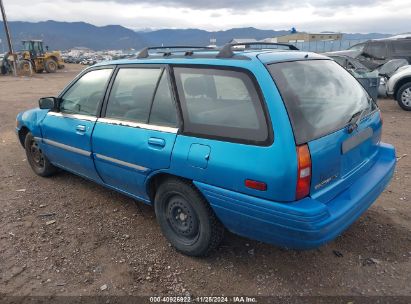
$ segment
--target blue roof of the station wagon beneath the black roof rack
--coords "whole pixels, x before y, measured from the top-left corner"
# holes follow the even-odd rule
[[[173,55],[164,56],[164,53],[155,53],[147,58],[130,58],[112,61],[104,61],[95,66],[106,65],[130,65],[130,64],[209,64],[238,66],[247,65],[247,62],[262,62],[271,64],[276,62],[330,59],[326,56],[312,52],[290,51],[290,50],[233,50],[234,56],[231,58],[217,58],[219,50],[196,51],[192,56],[185,56],[184,52],[176,52]]]

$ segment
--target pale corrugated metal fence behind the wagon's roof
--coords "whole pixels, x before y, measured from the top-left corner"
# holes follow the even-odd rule
[[[367,40],[307,41],[290,43],[302,51],[324,53],[342,51]]]

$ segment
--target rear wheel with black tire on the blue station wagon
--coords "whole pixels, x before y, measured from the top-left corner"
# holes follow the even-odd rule
[[[206,256],[223,239],[224,226],[189,182],[165,180],[156,192],[154,209],[164,236],[183,254]]]

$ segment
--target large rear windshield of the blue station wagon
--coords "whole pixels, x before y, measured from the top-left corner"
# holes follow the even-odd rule
[[[269,70],[287,107],[297,144],[343,128],[353,114],[372,103],[359,82],[332,60],[275,63]]]

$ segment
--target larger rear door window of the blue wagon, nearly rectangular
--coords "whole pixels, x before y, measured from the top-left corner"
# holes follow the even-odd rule
[[[121,68],[111,89],[106,117],[147,123],[161,68]]]

